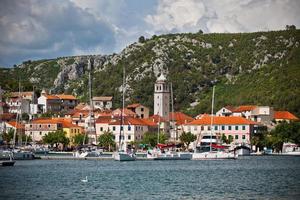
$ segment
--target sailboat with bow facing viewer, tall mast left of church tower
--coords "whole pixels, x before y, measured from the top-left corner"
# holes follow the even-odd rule
[[[123,67],[123,83],[122,83],[122,110],[120,119],[120,135],[119,135],[119,150],[114,154],[116,161],[135,161],[135,153],[127,149],[124,144],[124,108],[125,108],[125,68]]]

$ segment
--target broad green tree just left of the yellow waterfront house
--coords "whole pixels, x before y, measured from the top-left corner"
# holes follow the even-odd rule
[[[47,135],[43,136],[43,143],[50,144],[51,147],[58,147],[59,144],[63,145],[63,148],[68,145],[70,142],[69,138],[66,137],[66,132],[63,130],[57,130],[55,132],[50,132]]]

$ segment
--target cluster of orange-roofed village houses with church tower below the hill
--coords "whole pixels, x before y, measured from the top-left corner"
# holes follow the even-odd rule
[[[96,135],[99,137],[106,131],[112,132],[114,141],[119,143],[121,119],[124,118],[124,143],[130,144],[143,139],[146,132],[157,134],[164,132],[169,137],[169,142],[180,142],[183,132],[191,132],[198,137],[210,133],[210,115],[198,115],[195,119],[181,112],[170,112],[171,94],[170,85],[163,74],[154,84],[153,115],[149,108],[134,103],[122,108],[112,109],[112,97],[94,98],[94,117]],[[37,99],[37,101],[36,101]],[[2,99],[0,99],[2,100]],[[40,110],[34,113],[30,109],[23,112],[30,114],[64,113],[60,118],[35,118],[23,126],[23,132],[31,136],[33,141],[41,142],[42,137],[56,130],[63,130],[71,140],[76,134],[86,134],[91,107],[79,103],[76,97],[66,94],[49,95],[42,91],[37,98],[34,93],[11,94],[11,98],[2,102],[0,107],[8,106],[10,113],[0,113],[0,130],[6,131],[13,128],[16,119],[16,105],[22,106],[23,100],[35,104]],[[21,102],[16,104],[16,102]],[[93,107],[92,106],[92,107]],[[1,109],[0,109],[1,110]],[[233,143],[250,143],[251,135],[256,134],[259,127],[274,128],[276,122],[299,120],[287,111],[274,111],[269,106],[241,105],[237,107],[225,106],[218,110],[213,118],[213,132],[220,137],[224,134],[227,138],[231,135]],[[16,125],[17,126],[17,125]],[[197,142],[197,141],[196,141]],[[193,144],[194,145],[194,144]]]

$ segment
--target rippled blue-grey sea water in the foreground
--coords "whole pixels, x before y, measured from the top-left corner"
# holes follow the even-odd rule
[[[300,199],[300,157],[17,161],[0,168],[0,199]]]

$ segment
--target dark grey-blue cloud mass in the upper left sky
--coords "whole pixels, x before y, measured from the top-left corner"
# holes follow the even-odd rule
[[[84,53],[111,53],[115,29],[69,1],[1,1],[0,63]],[[99,51],[101,50],[101,51]]]

